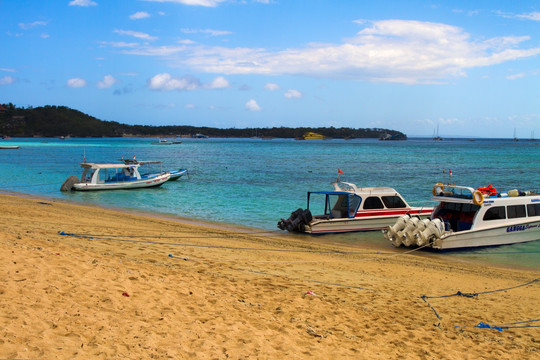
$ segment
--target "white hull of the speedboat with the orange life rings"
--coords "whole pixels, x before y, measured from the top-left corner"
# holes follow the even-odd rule
[[[446,234],[431,247],[440,250],[510,245],[540,240],[540,220],[504,225],[484,230],[467,230]]]

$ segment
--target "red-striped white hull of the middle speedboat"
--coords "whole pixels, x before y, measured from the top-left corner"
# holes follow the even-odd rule
[[[313,219],[306,225],[306,233],[309,234],[336,234],[356,231],[376,231],[382,230],[387,226],[393,225],[397,218],[406,213],[419,216],[422,219],[429,218],[431,211],[408,212],[399,211],[392,215],[373,216],[357,215],[355,218],[337,218],[337,219]]]

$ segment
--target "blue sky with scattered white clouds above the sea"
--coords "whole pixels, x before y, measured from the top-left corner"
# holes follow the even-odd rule
[[[540,3],[0,0],[0,103],[139,125],[540,137]]]

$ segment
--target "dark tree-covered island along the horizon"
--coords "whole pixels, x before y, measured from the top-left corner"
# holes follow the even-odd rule
[[[407,136],[390,129],[353,128],[245,128],[220,129],[186,125],[150,126],[126,125],[115,121],[103,121],[66,106],[40,106],[19,108],[13,104],[0,104],[0,136],[2,137],[208,137],[234,138],[303,138],[308,132],[321,134],[324,138],[353,139],[381,138],[404,140]]]

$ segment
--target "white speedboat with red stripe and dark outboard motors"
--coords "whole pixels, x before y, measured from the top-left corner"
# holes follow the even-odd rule
[[[307,209],[298,209],[289,219],[281,219],[278,227],[290,232],[331,234],[352,231],[381,230],[404,214],[429,217],[433,208],[411,207],[390,187],[358,188],[346,182],[333,182],[334,191],[307,193]],[[322,200],[316,206],[313,198]]]

